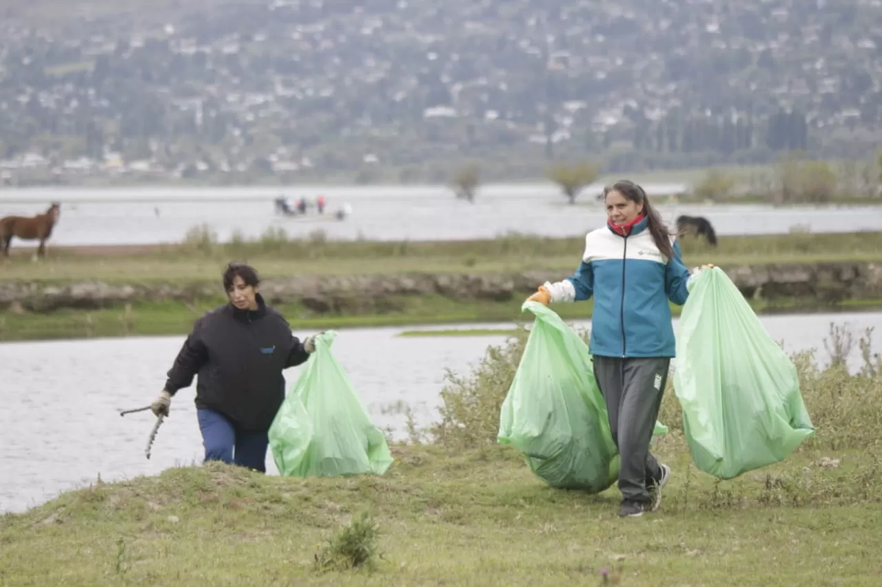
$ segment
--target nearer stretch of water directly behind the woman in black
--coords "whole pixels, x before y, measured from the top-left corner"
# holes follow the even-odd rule
[[[826,360],[824,338],[831,322],[847,324],[856,335],[871,326],[882,331],[879,312],[760,319],[788,352],[815,348],[818,360]],[[482,358],[488,345],[504,341],[498,335],[400,338],[401,330],[342,330],[333,346],[374,422],[391,429],[392,438],[405,436],[401,405],[411,408],[420,426],[434,421],[445,368],[462,373]],[[147,405],[159,394],[182,341],[158,337],[0,344],[0,512],[45,502],[99,474],[105,481],[131,479],[200,461],[195,385],[173,400],[149,461],[144,450],[153,415],[121,418],[117,412]],[[855,349],[850,366],[858,365]],[[288,370],[289,385],[298,371]],[[278,474],[271,454],[267,471]]]

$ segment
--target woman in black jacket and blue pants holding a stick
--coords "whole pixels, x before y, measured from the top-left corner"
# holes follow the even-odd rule
[[[266,472],[267,433],[285,398],[282,372],[309,360],[315,344],[313,336],[295,337],[288,321],[266,305],[259,283],[250,265],[228,264],[222,275],[228,302],[194,323],[151,410],[168,416],[172,398],[198,375],[205,462]]]

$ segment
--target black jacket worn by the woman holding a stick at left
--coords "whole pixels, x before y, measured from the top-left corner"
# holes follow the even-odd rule
[[[257,301],[256,310],[228,303],[199,318],[165,384],[174,396],[198,375],[196,407],[221,412],[243,430],[269,429],[285,398],[282,370],[310,357],[284,316],[260,294]]]

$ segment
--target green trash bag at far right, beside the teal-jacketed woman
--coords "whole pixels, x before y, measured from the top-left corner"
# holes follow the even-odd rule
[[[796,367],[719,267],[689,289],[674,390],[692,460],[718,479],[780,462],[814,434]]]

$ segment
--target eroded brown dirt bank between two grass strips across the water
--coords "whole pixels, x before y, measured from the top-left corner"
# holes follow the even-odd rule
[[[767,301],[802,298],[818,305],[843,300],[882,298],[882,264],[773,264],[725,268],[745,297]],[[426,274],[299,276],[266,279],[261,286],[273,304],[299,301],[318,313],[348,310],[392,310],[396,298],[440,295],[453,300],[507,301],[535,291],[546,279],[565,277],[559,271],[497,275]],[[218,298],[213,281],[197,284],[107,284],[84,281],[67,286],[28,282],[0,283],[0,309],[49,312],[58,308],[109,308],[138,301],[201,301]]]

